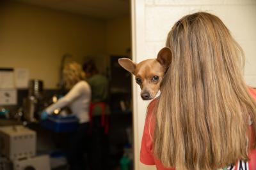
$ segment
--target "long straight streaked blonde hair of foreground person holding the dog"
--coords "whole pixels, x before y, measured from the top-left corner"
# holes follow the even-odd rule
[[[166,167],[209,170],[248,160],[256,103],[243,80],[243,50],[220,18],[194,13],[168,34],[172,63],[155,107],[154,155]]]

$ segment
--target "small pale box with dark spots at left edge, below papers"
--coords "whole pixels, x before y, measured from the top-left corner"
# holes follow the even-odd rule
[[[17,90],[16,89],[0,89],[0,106],[16,105]]]

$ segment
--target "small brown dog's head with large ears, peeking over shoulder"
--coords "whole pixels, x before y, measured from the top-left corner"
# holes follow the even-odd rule
[[[136,64],[130,59],[118,59],[118,63],[127,71],[134,74],[136,83],[140,85],[141,98],[151,100],[156,97],[161,87],[164,73],[166,73],[172,61],[172,52],[170,48],[162,48],[156,59],[143,60]]]

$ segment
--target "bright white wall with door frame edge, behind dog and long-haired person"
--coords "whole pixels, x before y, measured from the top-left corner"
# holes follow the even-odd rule
[[[227,25],[246,55],[244,78],[256,87],[256,1],[255,0],[132,0],[132,52],[137,62],[154,58],[164,46],[172,25],[196,11],[217,15]],[[140,143],[147,104],[134,83],[135,169],[154,169],[139,162]],[[140,107],[139,107],[140,106]]]

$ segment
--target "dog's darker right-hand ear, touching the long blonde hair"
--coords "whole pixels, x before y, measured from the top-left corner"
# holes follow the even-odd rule
[[[158,54],[156,59],[163,67],[164,69],[168,69],[172,62],[172,51],[168,47],[162,48]]]

